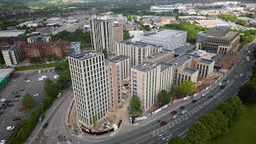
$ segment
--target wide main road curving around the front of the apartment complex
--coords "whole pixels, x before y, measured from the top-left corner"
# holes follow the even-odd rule
[[[248,46],[248,45],[247,45]],[[130,126],[133,127],[130,130],[127,130],[126,133],[122,134],[114,134],[105,140],[98,141],[89,141],[86,138],[82,138],[81,134],[75,135],[71,134],[69,130],[66,129],[66,111],[69,110],[70,99],[72,99],[72,95],[66,95],[66,101],[62,102],[58,111],[54,113],[52,118],[49,118],[47,122],[50,122],[50,126],[46,128],[44,134],[46,136],[43,138],[43,143],[54,143],[58,141],[58,135],[62,134],[66,136],[66,139],[72,139],[74,143],[104,143],[104,144],[113,144],[113,143],[166,143],[170,138],[181,135],[182,137],[186,137],[186,130],[188,127],[202,114],[206,114],[211,110],[214,110],[216,106],[218,106],[219,102],[223,102],[226,98],[237,93],[239,86],[242,85],[243,82],[246,81],[246,77],[250,72],[251,66],[254,64],[253,61],[245,62],[245,58],[248,55],[245,46],[241,52],[238,54],[238,61],[241,62],[236,63],[228,72],[227,75],[224,75],[222,78],[218,80],[222,82],[224,79],[229,81],[229,84],[225,83],[226,87],[224,89],[220,89],[218,83],[212,84],[210,89],[214,89],[214,91],[206,90],[204,93],[206,94],[205,98],[198,98],[198,102],[192,103],[188,102],[186,105],[186,110],[188,113],[182,115],[180,114],[182,110],[179,110],[179,106],[176,106],[174,110],[178,111],[179,118],[173,119],[172,115],[170,115],[170,111],[166,112],[166,114],[160,114],[161,120],[166,121],[166,126],[160,126],[157,122],[158,118],[154,118],[154,120],[150,122],[142,121],[142,124],[138,126],[136,124]],[[249,48],[252,51],[252,48]],[[249,54],[250,55],[250,54]],[[240,77],[240,74],[243,74]],[[213,95],[213,98],[207,98],[209,95]],[[164,111],[164,110],[163,110]],[[162,112],[163,112],[162,111]],[[154,117],[154,116],[153,116]],[[144,122],[144,124],[143,124]],[[135,127],[135,128],[134,128]],[[96,136],[95,136],[96,138]],[[97,138],[99,138],[97,136]]]

